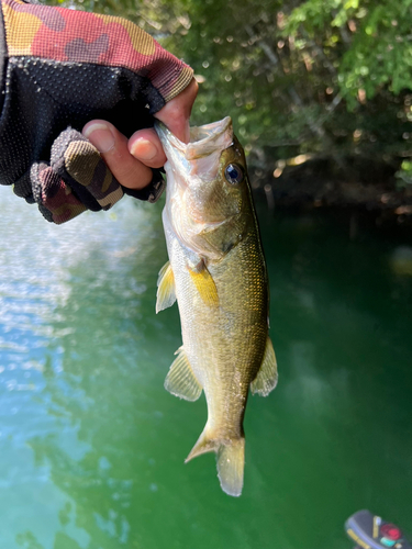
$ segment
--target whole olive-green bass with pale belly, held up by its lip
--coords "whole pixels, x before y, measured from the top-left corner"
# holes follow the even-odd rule
[[[240,496],[249,389],[266,396],[278,380],[245,154],[230,116],[191,127],[188,144],[160,122],[155,128],[167,157],[162,216],[169,258],[156,313],[177,301],[182,335],[165,388],[187,401],[204,392],[208,421],[186,462],[215,452],[222,490]]]

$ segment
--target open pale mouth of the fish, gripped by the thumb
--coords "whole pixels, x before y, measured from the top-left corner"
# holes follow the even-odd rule
[[[179,160],[179,164],[186,165],[191,160],[197,160],[222,152],[233,144],[232,119],[224,119],[204,124],[203,126],[192,126],[190,128],[190,141],[188,144],[181,142],[170,130],[159,121],[155,122],[155,130],[166,156],[169,160]]]

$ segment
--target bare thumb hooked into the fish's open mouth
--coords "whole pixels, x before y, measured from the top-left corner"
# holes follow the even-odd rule
[[[166,124],[170,132],[183,143],[190,139],[189,119],[198,90],[198,82],[193,78],[183,91],[155,114],[155,117]]]

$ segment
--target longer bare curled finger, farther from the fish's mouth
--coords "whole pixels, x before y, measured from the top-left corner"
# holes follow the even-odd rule
[[[82,134],[99,150],[121,184],[129,189],[143,189],[152,181],[151,168],[130,154],[126,137],[113,124],[92,120],[86,124]]]

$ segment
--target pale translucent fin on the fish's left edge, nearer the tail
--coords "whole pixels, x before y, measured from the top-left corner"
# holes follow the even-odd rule
[[[183,347],[180,347],[176,354],[177,357],[166,376],[165,389],[179,399],[197,401],[202,392],[202,386],[196,379]]]

